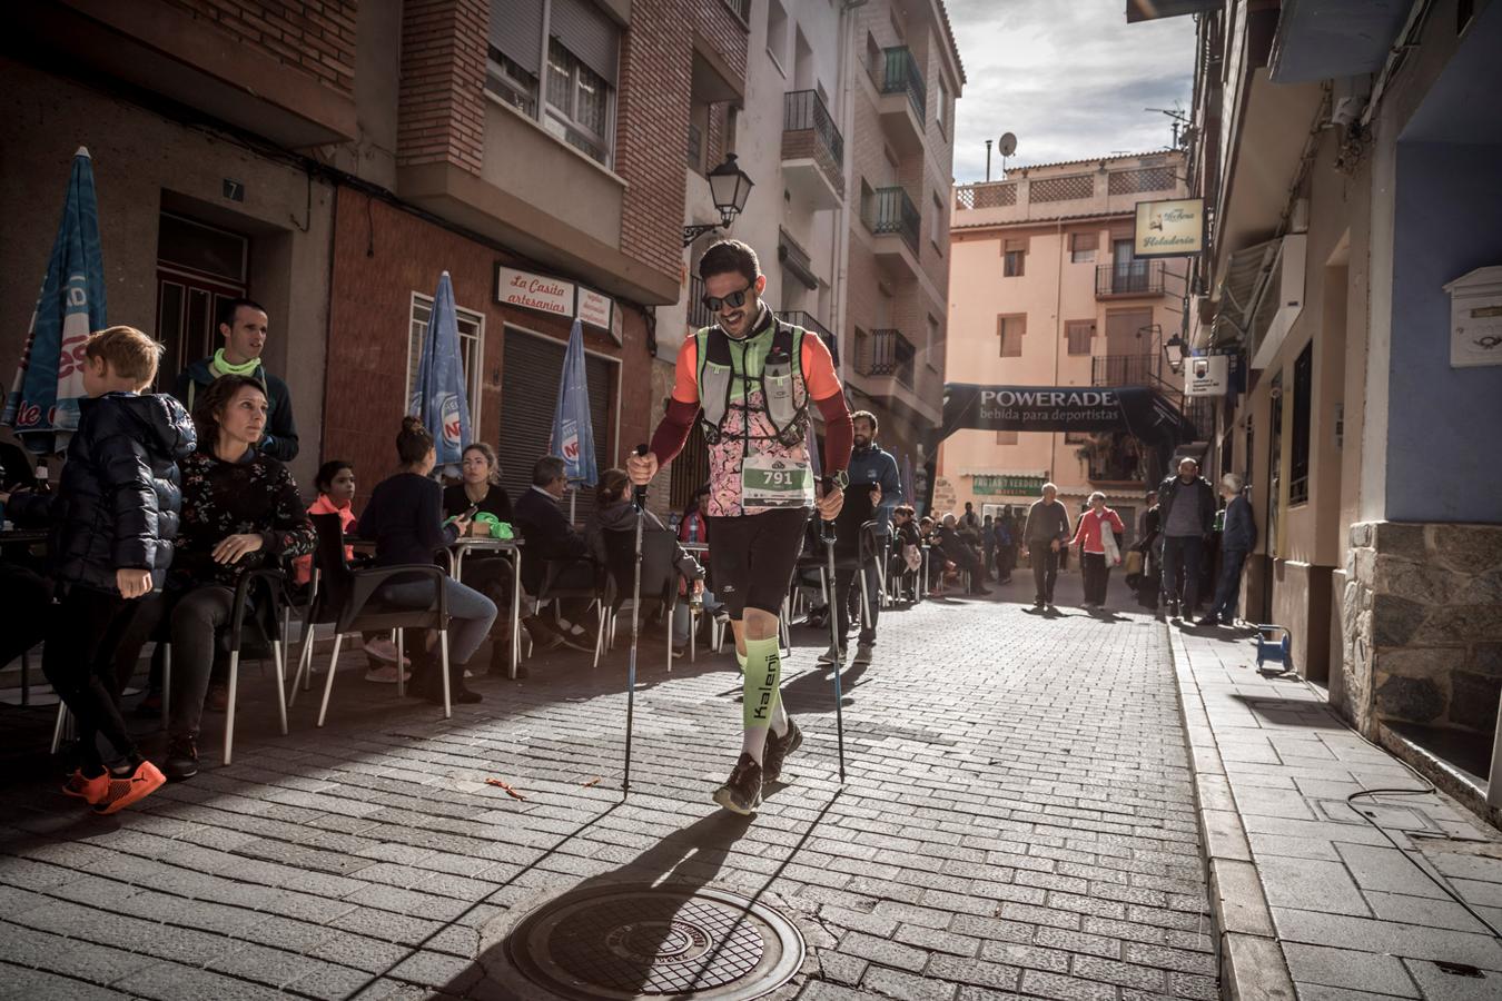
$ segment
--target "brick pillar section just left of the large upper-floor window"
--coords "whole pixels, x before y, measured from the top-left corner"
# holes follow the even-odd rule
[[[397,162],[481,173],[485,156],[485,0],[407,0],[401,24]]]

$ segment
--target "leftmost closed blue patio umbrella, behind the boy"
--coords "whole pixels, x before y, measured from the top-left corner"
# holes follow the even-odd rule
[[[33,452],[60,452],[78,428],[83,344],[107,326],[93,164],[78,147],[26,351],[0,416]]]

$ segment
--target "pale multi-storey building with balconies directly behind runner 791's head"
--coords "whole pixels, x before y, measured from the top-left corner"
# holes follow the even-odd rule
[[[921,470],[942,396],[945,192],[963,86],[943,5],[728,6],[745,15],[743,84],[695,62],[683,225],[719,221],[706,174],[734,153],[754,188],[728,236],[762,258],[766,302],[825,339],[852,405],[876,413],[883,444]],[[713,323],[697,267],[724,236],[685,246],[680,300],[658,311],[658,399],[682,338]],[[695,434],[674,462],[673,500],[706,474]]]

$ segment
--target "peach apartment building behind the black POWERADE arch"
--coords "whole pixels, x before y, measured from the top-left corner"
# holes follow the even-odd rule
[[[1181,402],[1164,344],[1179,332],[1185,258],[1134,258],[1136,206],[1181,198],[1178,150],[1023,167],[961,185],[951,225],[946,380],[1148,386]],[[1044,482],[1077,512],[1105,492],[1136,534],[1163,470],[1125,431],[957,431],[939,449],[934,510],[1030,504]]]

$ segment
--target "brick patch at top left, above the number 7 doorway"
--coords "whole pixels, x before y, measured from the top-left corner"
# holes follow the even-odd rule
[[[317,77],[345,96],[354,92],[354,17],[359,0],[252,3],[165,0],[276,62]]]

